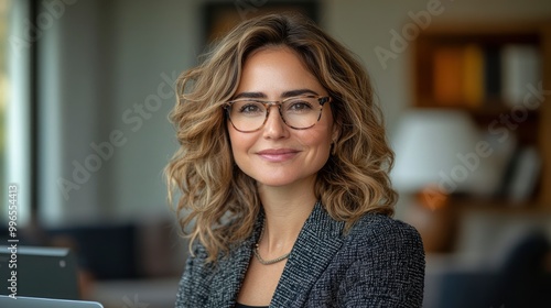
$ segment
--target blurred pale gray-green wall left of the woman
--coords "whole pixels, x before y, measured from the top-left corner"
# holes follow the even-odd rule
[[[39,41],[46,223],[169,212],[168,113],[175,77],[196,63],[197,3],[79,0],[52,14]]]

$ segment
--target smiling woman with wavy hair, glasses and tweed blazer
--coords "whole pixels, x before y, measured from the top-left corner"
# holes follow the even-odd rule
[[[380,109],[316,25],[242,22],[181,76],[171,119],[191,240],[176,307],[421,307],[422,242],[390,218]]]

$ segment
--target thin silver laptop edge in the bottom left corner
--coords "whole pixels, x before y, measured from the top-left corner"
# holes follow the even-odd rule
[[[101,304],[86,300],[36,298],[0,295],[0,307],[2,308],[104,308]]]

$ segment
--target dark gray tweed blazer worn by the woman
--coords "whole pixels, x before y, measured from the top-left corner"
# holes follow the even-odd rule
[[[234,307],[258,240],[253,234],[217,265],[195,245],[180,282],[176,307]],[[366,215],[344,234],[344,223],[316,206],[287,261],[270,307],[421,307],[424,251],[410,226]]]

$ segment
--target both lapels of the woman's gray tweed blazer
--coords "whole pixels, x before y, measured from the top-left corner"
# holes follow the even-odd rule
[[[218,261],[210,288],[212,307],[234,307],[263,223],[261,213],[251,237]],[[270,306],[300,307],[317,277],[343,244],[344,223],[333,220],[318,202],[304,222],[287,261]],[[291,294],[292,296],[289,296]]]

